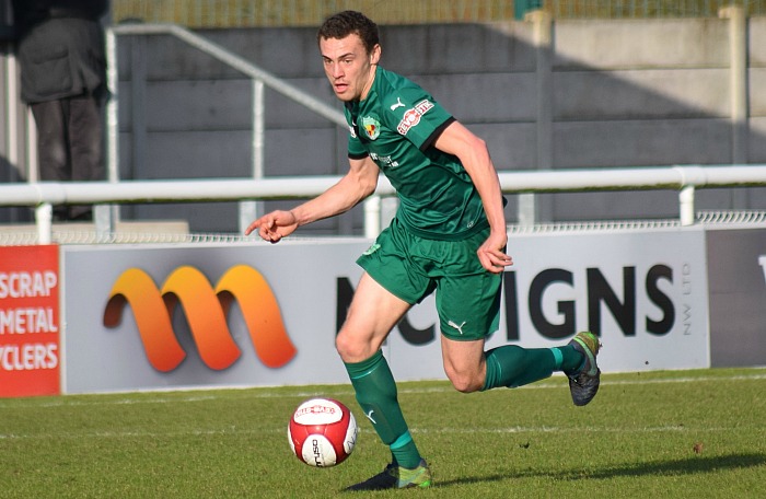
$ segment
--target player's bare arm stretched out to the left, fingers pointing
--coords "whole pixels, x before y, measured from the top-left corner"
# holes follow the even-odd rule
[[[375,192],[379,172],[370,156],[349,160],[348,173],[333,187],[290,211],[264,214],[249,224],[245,235],[257,230],[264,241],[278,243],[301,225],[344,213]]]

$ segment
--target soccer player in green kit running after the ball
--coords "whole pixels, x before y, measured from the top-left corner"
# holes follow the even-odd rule
[[[485,351],[498,328],[508,233],[497,172],[484,140],[431,95],[379,66],[378,26],[355,11],[317,33],[322,61],[349,125],[348,173],[289,211],[264,214],[245,231],[277,243],[295,229],[343,213],[370,196],[380,172],[399,208],[357,260],[364,269],[336,337],[357,401],[392,462],[350,489],[428,487],[431,473],[408,430],[381,346],[416,303],[436,292],[444,371],[461,392],[517,387],[562,371],[572,401],[588,404],[601,371],[599,338],[578,333],[556,348],[506,345]]]

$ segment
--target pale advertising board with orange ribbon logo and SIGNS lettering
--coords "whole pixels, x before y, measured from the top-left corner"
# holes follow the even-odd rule
[[[62,246],[65,393],[347,383],[334,338],[369,241]],[[489,347],[595,329],[603,371],[709,365],[704,232],[512,235]],[[433,298],[392,333],[399,380],[443,379]]]

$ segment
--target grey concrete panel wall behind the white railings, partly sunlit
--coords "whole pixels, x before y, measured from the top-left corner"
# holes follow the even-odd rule
[[[422,84],[484,137],[499,170],[766,163],[766,19],[746,21],[740,53],[730,44],[738,39],[733,23],[538,18],[382,26],[382,65]],[[315,28],[200,34],[340,109],[322,73]],[[732,92],[742,53],[744,101]],[[121,178],[251,174],[247,79],[167,36],[120,36],[118,59]],[[272,91],[266,100],[266,175],[346,171],[345,130]],[[697,208],[766,209],[764,194],[703,190]],[[520,216],[517,198],[510,222]],[[677,198],[674,192],[541,195],[535,216],[675,218]],[[123,217],[188,218],[196,231],[237,227],[233,204],[125,207]],[[357,209],[303,233],[359,234],[361,224]]]

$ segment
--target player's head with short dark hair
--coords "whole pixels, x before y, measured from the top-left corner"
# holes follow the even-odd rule
[[[335,95],[345,102],[364,98],[381,57],[375,23],[360,12],[339,12],[322,24],[316,40]]]

